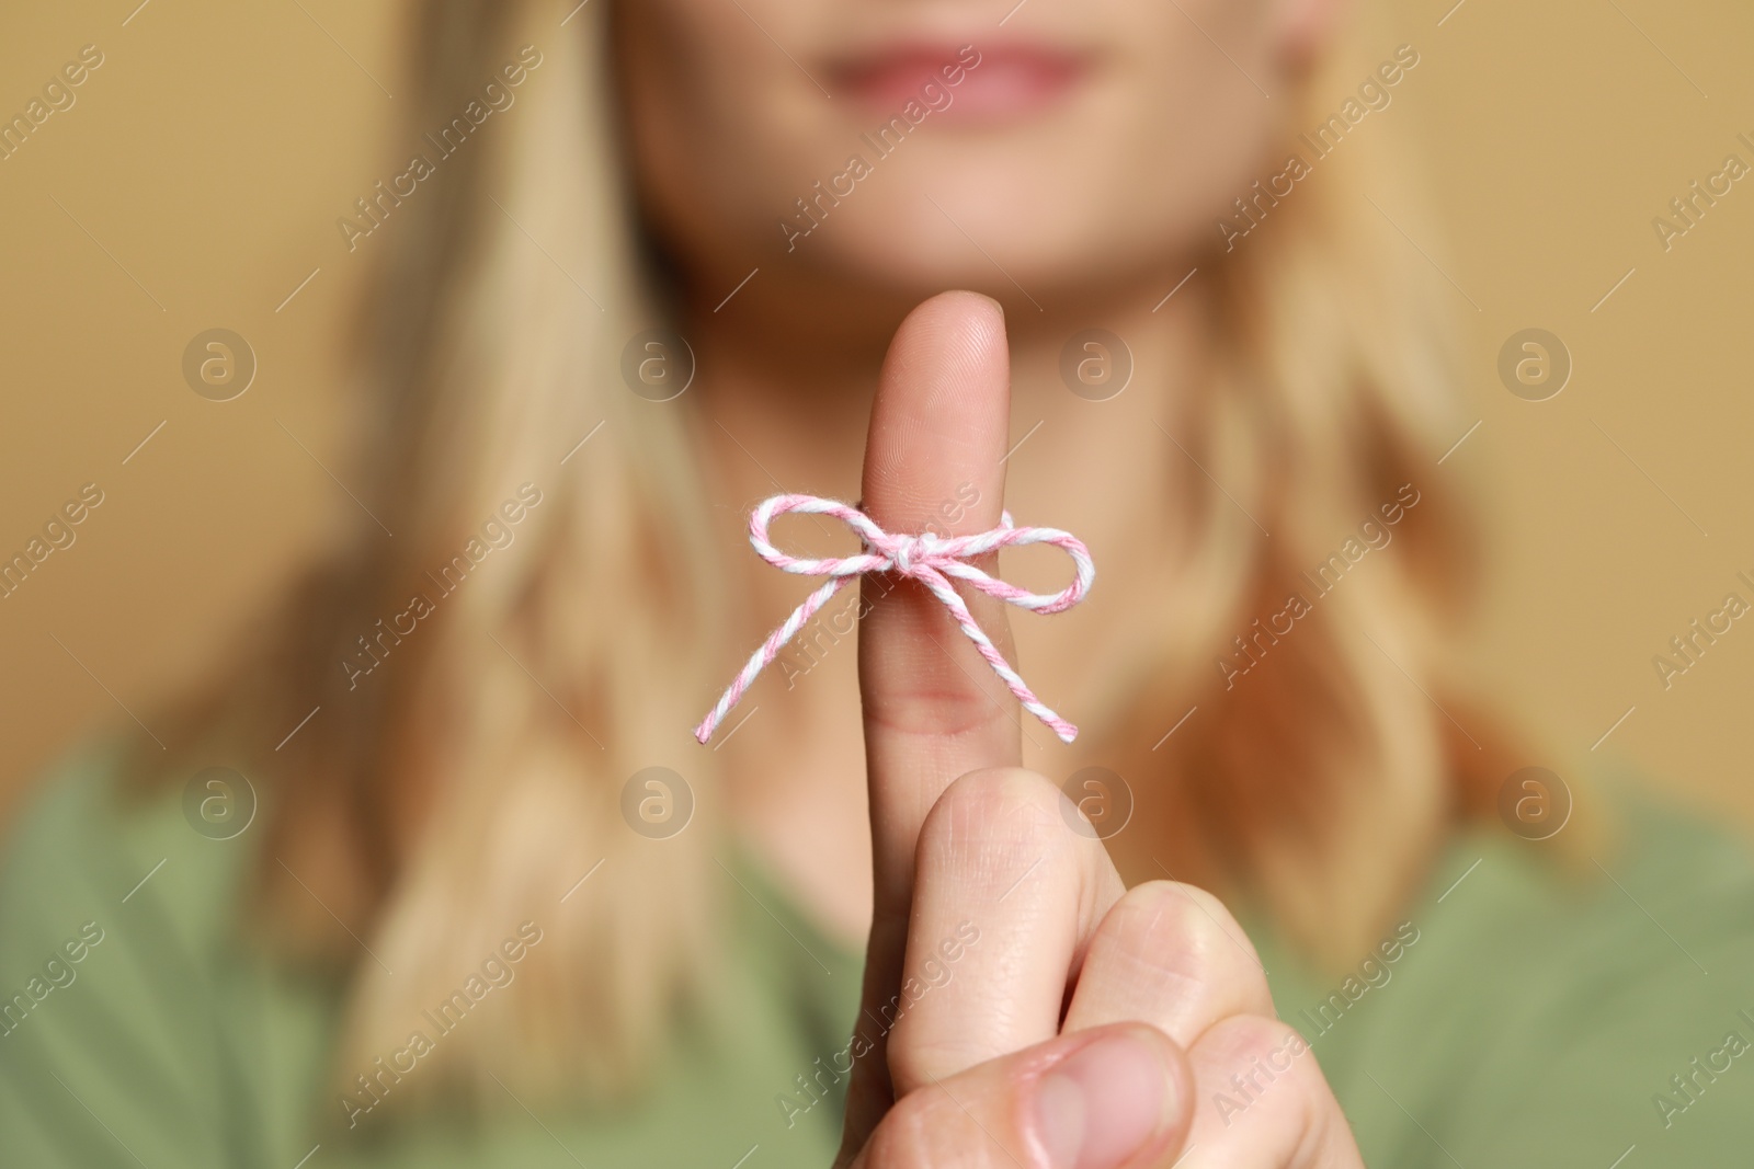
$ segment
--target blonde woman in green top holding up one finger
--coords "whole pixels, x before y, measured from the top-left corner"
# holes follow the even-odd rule
[[[1728,1162],[1754,873],[1493,815],[1421,46],[1331,9],[423,5],[356,522],[18,825],[7,1164]],[[1077,743],[886,573],[696,745],[784,491],[1077,533],[972,598]]]

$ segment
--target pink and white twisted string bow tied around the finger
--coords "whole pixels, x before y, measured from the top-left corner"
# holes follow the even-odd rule
[[[856,531],[865,542],[865,550],[859,556],[844,556],[830,559],[802,559],[789,556],[774,547],[768,540],[768,524],[774,522],[777,515],[786,515],[788,512],[805,512],[819,515],[833,515],[847,528]],[[724,722],[724,715],[737,706],[742,699],[744,691],[756,680],[765,666],[768,666],[779,652],[791,641],[793,636],[816,615],[819,608],[828,605],[840,589],[861,577],[863,573],[898,573],[909,577],[926,585],[935,598],[944,601],[944,606],[951,610],[956,624],[961,626],[968,640],[975,643],[980,650],[980,657],[988,659],[1010,692],[1017,696],[1024,710],[1033,713],[1037,719],[1045,722],[1054,734],[1059,736],[1063,743],[1070,743],[1077,738],[1079,729],[1049,710],[1042,699],[1024,684],[1010,662],[998,652],[993,640],[975,624],[973,615],[968,612],[968,605],[956,592],[956,585],[951,580],[961,580],[988,596],[998,598],[1017,608],[1026,608],[1035,613],[1058,613],[1072,608],[1084,599],[1089,592],[1091,582],[1096,580],[1096,564],[1091,561],[1089,549],[1073,536],[1072,533],[1059,531],[1058,528],[1014,528],[1010,522],[1010,512],[1002,515],[1000,526],[991,531],[982,531],[973,536],[935,536],[924,533],[919,536],[891,535],[879,528],[868,515],[858,508],[840,503],[838,499],[823,499],[817,496],[774,496],[763,499],[761,505],[749,515],[749,543],[754,545],[756,554],[765,559],[774,568],[788,573],[800,573],[805,577],[828,577],[828,584],[805,598],[803,605],[791,612],[768,640],[761,643],[749,661],[738,671],[731,685],[719,696],[717,705],[712,712],[695,727],[695,738],[705,743],[712,738],[712,733]],[[1026,592],[1017,585],[998,580],[980,571],[973,564],[965,561],[975,556],[984,556],[996,549],[1019,545],[1019,543],[1052,543],[1072,557],[1075,568],[1075,577],[1070,585],[1059,592]]]

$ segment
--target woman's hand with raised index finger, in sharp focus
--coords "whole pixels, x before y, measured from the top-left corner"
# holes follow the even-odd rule
[[[863,510],[921,531],[973,496],[951,535],[996,526],[1009,398],[998,305],[916,308],[884,363]],[[1005,606],[970,606],[1009,657]],[[1121,883],[1019,766],[1017,703],[914,582],[866,613],[859,687],[875,917],[842,1165],[1361,1164],[1237,922],[1200,889]]]

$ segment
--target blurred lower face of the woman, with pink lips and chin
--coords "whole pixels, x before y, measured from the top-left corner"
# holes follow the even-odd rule
[[[642,202],[689,275],[1040,298],[1219,240],[1282,161],[1324,7],[624,0],[616,51]]]

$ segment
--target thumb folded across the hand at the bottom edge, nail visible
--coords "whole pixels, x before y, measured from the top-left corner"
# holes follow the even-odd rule
[[[1191,1085],[1187,1055],[1147,1024],[1063,1034],[902,1097],[852,1169],[1170,1164]]]

